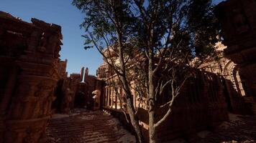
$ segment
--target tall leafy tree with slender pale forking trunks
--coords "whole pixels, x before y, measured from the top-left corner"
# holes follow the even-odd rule
[[[137,142],[143,142],[143,137],[132,102],[131,70],[132,80],[140,85],[136,91],[147,98],[150,142],[157,142],[156,129],[172,113],[173,102],[193,76],[191,66],[214,54],[218,24],[211,1],[73,0],[73,4],[86,14],[81,24],[85,48],[98,49],[124,89]],[[115,52],[119,64],[108,59],[106,51]],[[132,61],[140,62],[131,66]],[[157,101],[163,96],[168,101]],[[157,109],[166,107],[165,115],[156,119]]]

